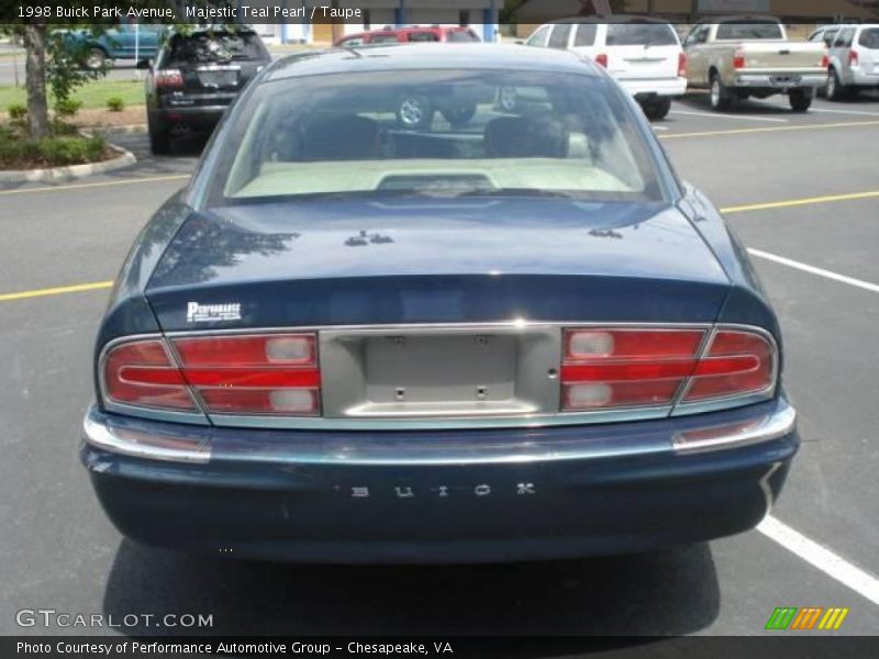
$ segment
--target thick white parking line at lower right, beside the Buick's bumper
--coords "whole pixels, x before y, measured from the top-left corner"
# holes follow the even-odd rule
[[[869,572],[852,565],[842,556],[810,540],[770,515],[760,522],[757,530],[863,597],[879,605],[879,579]]]

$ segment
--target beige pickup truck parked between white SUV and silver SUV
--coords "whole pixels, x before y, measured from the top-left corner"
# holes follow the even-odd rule
[[[711,107],[736,99],[786,93],[794,112],[805,112],[827,80],[822,43],[790,42],[775,19],[732,16],[697,23],[683,42],[690,87],[708,88]]]

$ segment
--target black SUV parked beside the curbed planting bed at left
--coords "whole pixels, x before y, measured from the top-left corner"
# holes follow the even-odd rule
[[[249,29],[219,26],[171,34],[148,68],[146,115],[149,146],[166,154],[171,138],[210,132],[247,82],[269,62],[265,44]]]

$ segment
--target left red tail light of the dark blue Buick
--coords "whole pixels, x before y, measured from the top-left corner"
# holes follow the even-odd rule
[[[103,360],[107,400],[198,411],[191,392],[213,413],[305,416],[320,412],[314,334],[187,337],[171,344],[179,367],[160,339],[111,348]]]

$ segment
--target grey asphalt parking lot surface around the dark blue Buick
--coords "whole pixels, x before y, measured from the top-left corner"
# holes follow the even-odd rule
[[[879,632],[879,96],[804,115],[783,99],[714,114],[693,96],[655,129],[725,209],[781,317],[803,446],[760,528],[648,556],[442,568],[247,563],[123,540],[77,457],[92,340],[109,280],[197,158],[153,158],[125,135],[131,168],[0,189],[0,634],[88,632],[16,626],[41,607],[204,613],[230,634],[754,635],[776,606],[842,606],[839,634]]]

